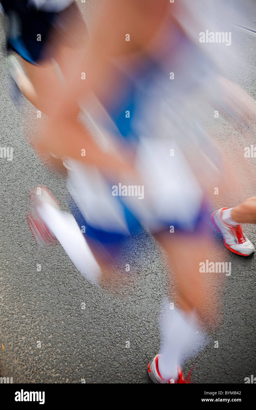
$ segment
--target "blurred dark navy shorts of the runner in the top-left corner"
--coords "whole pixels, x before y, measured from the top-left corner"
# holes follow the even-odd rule
[[[54,58],[65,30],[75,30],[78,24],[85,28],[75,3],[58,13],[37,10],[28,0],[1,0],[1,4],[9,18],[7,50],[35,65]]]

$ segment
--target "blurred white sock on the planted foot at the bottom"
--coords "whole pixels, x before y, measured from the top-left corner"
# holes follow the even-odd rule
[[[164,340],[161,356],[158,358],[158,369],[162,378],[175,380],[178,377],[177,365],[180,364],[182,353],[196,332],[195,316],[169,309],[169,312],[164,314],[164,322]]]

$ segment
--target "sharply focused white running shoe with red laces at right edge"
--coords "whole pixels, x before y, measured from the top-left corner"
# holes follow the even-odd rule
[[[212,213],[211,220],[218,232],[223,236],[224,245],[237,255],[249,256],[255,251],[253,244],[244,235],[241,225],[229,225],[222,220],[221,208]]]

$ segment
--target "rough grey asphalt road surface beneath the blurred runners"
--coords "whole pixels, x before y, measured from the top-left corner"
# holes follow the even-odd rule
[[[93,5],[83,5],[89,26]],[[250,28],[256,30],[256,7],[251,7]],[[2,16],[0,34],[2,50]],[[231,65],[226,74],[256,97],[256,36],[238,28],[232,35],[247,70]],[[151,383],[147,366],[159,351],[158,315],[167,291],[164,255],[147,232],[131,238],[128,255],[124,251],[120,265],[113,267],[124,278],[123,287],[113,285],[109,290],[85,280],[60,245],[37,246],[26,223],[28,192],[46,185],[67,210],[65,175],[55,172],[47,155],[42,163],[28,144],[26,137],[37,139],[42,123],[25,99],[21,108],[14,106],[6,91],[7,74],[2,59],[0,146],[12,146],[14,153],[12,161],[0,159],[0,374],[12,377],[13,383]],[[224,118],[216,122],[210,107],[205,107],[205,121],[217,142],[226,141],[223,155],[232,158],[232,147],[241,146],[239,135]],[[253,143],[256,145],[255,135],[251,136]],[[241,150],[243,153],[244,146]],[[252,164],[251,174],[255,171]],[[229,203],[222,206],[234,206],[254,195],[255,183],[248,180],[243,196],[233,192]],[[221,193],[218,200],[221,206]],[[212,205],[209,219],[213,209]],[[256,256],[230,253],[214,229],[210,230],[216,239],[216,260],[231,262],[232,274],[221,287],[219,329],[210,333],[207,346],[185,363],[184,371],[186,374],[195,364],[194,383],[244,383],[245,377],[256,372]],[[256,244],[256,226],[244,225],[244,230]]]

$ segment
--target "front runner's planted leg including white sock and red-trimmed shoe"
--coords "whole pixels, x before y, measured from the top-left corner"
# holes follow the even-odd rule
[[[163,233],[157,239],[166,251],[178,288],[178,308],[171,313],[165,307],[161,319],[162,333],[161,354],[150,362],[149,375],[152,380],[163,383],[164,380],[178,380],[178,364],[186,349],[196,353],[203,347],[203,340],[196,340],[197,321],[199,316],[207,328],[214,328],[217,321],[217,297],[211,290],[213,276],[199,272],[200,262],[209,256],[209,243],[206,235],[184,233]],[[170,278],[170,276],[168,276]],[[175,289],[176,290],[176,289]],[[170,294],[170,301],[175,295]],[[180,309],[179,309],[180,308]],[[153,374],[153,376],[152,376]],[[161,377],[159,377],[161,375]],[[178,381],[179,383],[179,381]]]

